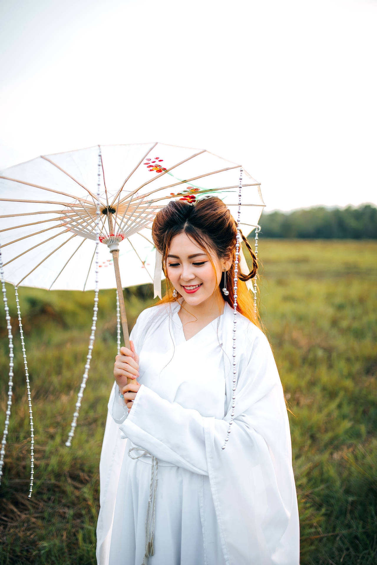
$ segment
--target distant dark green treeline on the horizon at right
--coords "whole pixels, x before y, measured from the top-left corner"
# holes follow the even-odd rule
[[[263,237],[310,239],[377,239],[377,208],[369,204],[354,208],[318,207],[293,212],[262,214]]]

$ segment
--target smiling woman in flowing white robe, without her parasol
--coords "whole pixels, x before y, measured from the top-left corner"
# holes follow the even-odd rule
[[[245,275],[236,222],[217,197],[170,202],[152,234],[167,295],[115,358],[98,563],[298,565],[287,408],[245,284],[255,255],[242,235],[253,258]]]

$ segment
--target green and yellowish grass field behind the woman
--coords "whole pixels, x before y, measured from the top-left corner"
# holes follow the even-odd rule
[[[301,565],[377,563],[377,242],[263,240],[261,315],[292,434]],[[89,342],[93,292],[19,289],[32,381],[36,470],[14,291],[15,385],[0,487],[1,564],[95,564],[98,462],[116,354],[115,291],[99,293],[92,368],[71,449],[64,446]],[[126,289],[129,325],[151,300]],[[1,320],[1,409],[7,333]],[[1,431],[3,414],[0,416]],[[256,565],[256,564],[255,564]]]

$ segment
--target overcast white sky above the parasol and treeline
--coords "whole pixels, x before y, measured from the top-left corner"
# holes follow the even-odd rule
[[[377,203],[377,2],[15,0],[0,167],[160,141],[242,163],[267,210]]]

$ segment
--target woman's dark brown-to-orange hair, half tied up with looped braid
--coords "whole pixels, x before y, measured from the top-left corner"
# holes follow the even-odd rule
[[[166,293],[158,304],[176,301],[172,295],[173,286],[167,276],[166,262],[171,240],[180,233],[187,234],[206,251],[214,270],[215,265],[210,251],[215,253],[219,260],[232,257],[232,265],[226,271],[226,287],[229,294],[224,295],[223,298],[233,308],[237,224],[227,206],[216,196],[202,198],[196,203],[188,203],[184,200],[170,201],[167,206],[157,212],[152,225],[152,238],[155,247],[162,254],[162,268],[167,282]],[[253,268],[247,274],[240,271],[240,266],[238,268],[237,311],[261,328],[258,312],[257,314],[254,312],[254,300],[245,284],[246,281],[257,276],[258,262],[244,234],[241,233],[241,237],[252,257]],[[216,280],[215,289],[215,292],[218,293],[219,304],[222,297],[220,282]]]

